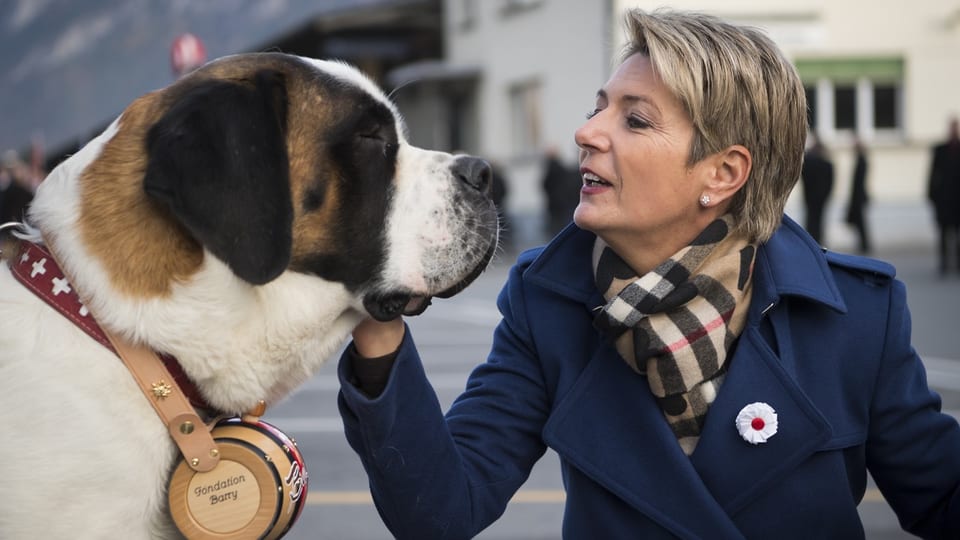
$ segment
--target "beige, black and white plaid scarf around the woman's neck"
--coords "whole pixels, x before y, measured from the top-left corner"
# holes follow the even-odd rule
[[[597,287],[607,300],[594,325],[631,368],[647,376],[688,456],[750,303],[756,246],[730,236],[732,225],[729,215],[717,219],[689,246],[639,277],[602,240],[594,245]]]

